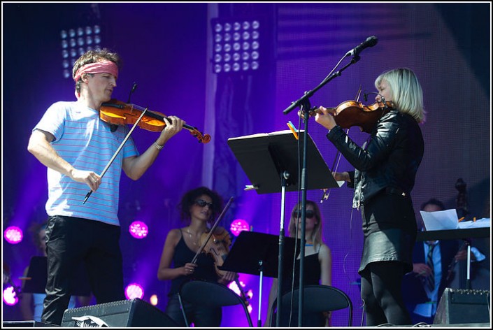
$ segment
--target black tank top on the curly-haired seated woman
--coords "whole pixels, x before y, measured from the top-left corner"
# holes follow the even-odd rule
[[[185,266],[188,262],[192,261],[195,257],[195,253],[187,246],[183,239],[183,232],[180,229],[181,238],[175,247],[175,254],[173,255],[173,268],[179,268]],[[214,259],[210,255],[201,253],[197,257],[197,268],[195,268],[193,275],[179,276],[171,280],[171,289],[168,296],[178,293],[180,285],[187,280],[208,280],[210,282],[217,282],[219,277],[215,272]]]

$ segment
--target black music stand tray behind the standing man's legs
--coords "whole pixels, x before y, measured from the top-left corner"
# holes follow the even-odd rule
[[[90,296],[91,287],[87,279],[84,264],[80,264],[74,273],[70,292],[72,296]],[[48,280],[48,266],[46,257],[32,257],[29,263],[29,270],[26,275],[22,292],[31,292],[35,294],[45,294],[46,281]]]

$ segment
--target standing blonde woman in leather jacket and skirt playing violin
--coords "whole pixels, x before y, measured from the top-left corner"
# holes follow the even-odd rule
[[[424,152],[419,126],[424,121],[423,94],[410,69],[385,71],[375,86],[384,111],[366,148],[356,145],[338,124],[344,111],[320,107],[315,121],[329,129],[329,141],[355,166],[355,171],[333,175],[354,188],[352,206],[361,208],[364,247],[358,273],[366,325],[410,324],[401,282],[413,270],[417,225],[410,193]]]

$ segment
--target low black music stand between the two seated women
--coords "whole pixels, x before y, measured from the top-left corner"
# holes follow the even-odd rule
[[[297,240],[299,241],[299,240]],[[262,280],[264,275],[269,278],[278,278],[279,236],[241,231],[229,250],[222,266],[224,271],[260,275],[259,279],[259,316],[257,326],[262,327]],[[296,248],[297,247],[297,248]],[[283,258],[290,261],[299,253],[299,244],[296,239],[287,237],[284,245]],[[296,251],[295,251],[296,250]],[[290,263],[283,267],[283,272],[291,271]],[[278,283],[280,285],[280,283]],[[280,286],[279,286],[280,287]],[[270,307],[270,306],[269,306]]]

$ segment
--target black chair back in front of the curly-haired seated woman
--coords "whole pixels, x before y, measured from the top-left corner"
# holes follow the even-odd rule
[[[245,310],[249,326],[253,327],[252,318],[250,317],[250,313],[248,313],[245,301],[243,301],[241,296],[238,296],[233,290],[229,289],[229,287],[220,283],[205,280],[183,282],[178,291],[178,300],[180,301],[180,307],[182,308],[183,318],[187,327],[190,327],[190,324],[187,320],[183,304],[185,301],[210,307],[241,305],[243,306],[243,310]]]

